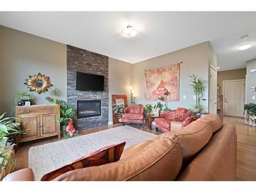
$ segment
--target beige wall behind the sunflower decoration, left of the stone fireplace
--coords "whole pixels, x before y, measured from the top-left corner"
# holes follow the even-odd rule
[[[15,91],[28,91],[24,84],[29,75],[40,72],[50,77],[60,90],[58,99],[67,99],[67,47],[64,44],[0,26],[0,114],[14,104]],[[31,92],[36,104],[50,104],[49,92]]]

